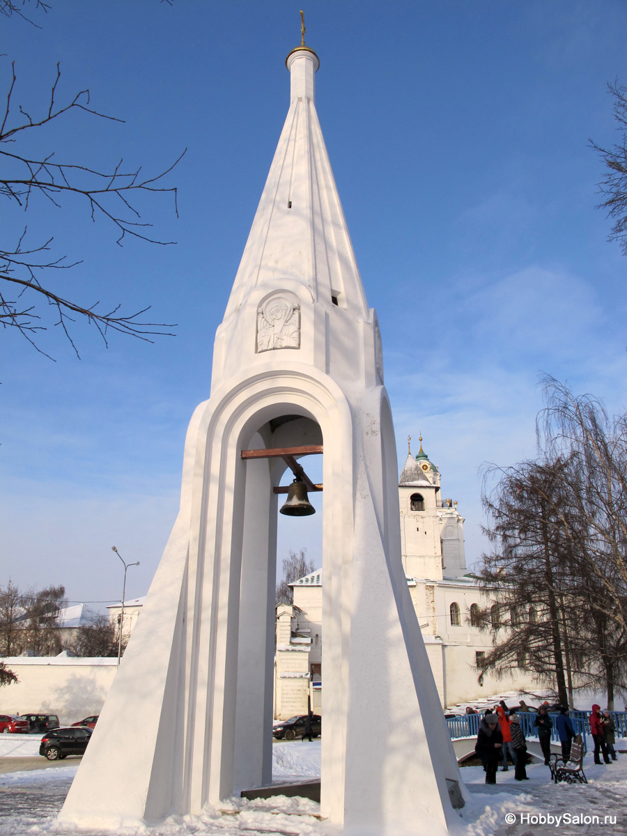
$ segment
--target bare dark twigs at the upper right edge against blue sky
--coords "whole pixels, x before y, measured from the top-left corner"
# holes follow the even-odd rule
[[[608,84],[608,89],[614,97],[612,110],[618,122],[619,142],[611,148],[603,148],[593,140],[589,140],[589,145],[599,152],[607,169],[605,179],[597,184],[604,196],[597,208],[605,209],[614,222],[608,240],[618,241],[623,255],[627,255],[627,87],[615,80]]]

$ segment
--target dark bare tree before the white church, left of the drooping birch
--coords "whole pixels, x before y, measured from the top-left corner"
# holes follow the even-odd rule
[[[492,601],[482,613],[482,626],[492,630],[494,641],[482,672],[532,670],[556,686],[566,704],[563,603],[572,584],[572,543],[560,510],[562,469],[561,463],[548,461],[487,469],[487,476],[497,472],[500,479],[483,496],[489,521],[484,533],[493,548],[483,556],[479,577]]]

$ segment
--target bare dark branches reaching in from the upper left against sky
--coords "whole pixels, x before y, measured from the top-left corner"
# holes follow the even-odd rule
[[[33,11],[48,12],[47,3],[33,0]],[[0,0],[0,12],[8,17],[17,15],[33,21],[24,13],[26,0]],[[123,160],[108,168],[84,164],[78,161],[63,161],[54,151],[48,154],[32,155],[26,150],[30,135],[39,133],[48,125],[64,120],[71,112],[79,112],[102,120],[121,122],[114,116],[105,115],[91,107],[89,89],[79,90],[74,96],[59,101],[59,79],[57,73],[48,98],[48,106],[39,113],[30,115],[22,104],[14,104],[16,84],[15,64],[12,64],[4,113],[0,112],[0,196],[16,212],[33,213],[42,201],[61,208],[65,201],[73,200],[84,204],[92,221],[101,220],[115,232],[117,243],[122,246],[125,237],[134,237],[145,242],[170,244],[150,232],[150,223],[141,219],[135,198],[141,194],[169,194],[176,206],[176,187],[166,186],[166,176],[173,165],[154,175],[144,175],[141,167],[125,166]],[[183,152],[185,153],[185,151]],[[182,156],[182,155],[181,155]],[[129,334],[149,342],[157,334],[171,334],[172,324],[153,323],[144,319],[150,308],[147,306],[135,313],[125,314],[120,304],[113,308],[100,308],[99,302],[82,303],[65,298],[54,287],[54,281],[64,270],[76,268],[81,261],[68,258],[56,252],[53,237],[31,241],[28,226],[13,242],[0,242],[0,324],[4,328],[15,328],[41,351],[36,344],[38,331],[48,328],[44,312],[52,314],[52,322],[58,325],[69,339],[78,356],[74,340],[70,335],[71,324],[83,319],[98,330],[107,344],[107,335],[113,331]],[[42,304],[43,303],[43,304]],[[45,354],[45,352],[42,352]]]

